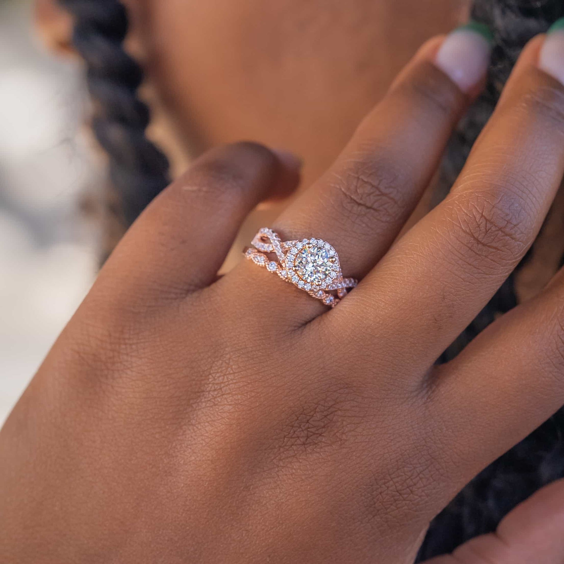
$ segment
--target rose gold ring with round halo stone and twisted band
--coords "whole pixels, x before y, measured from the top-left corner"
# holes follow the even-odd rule
[[[263,227],[252,245],[245,251],[246,258],[327,306],[335,307],[346,296],[347,288],[357,284],[354,278],[343,278],[336,250],[321,239],[282,241],[278,233]]]

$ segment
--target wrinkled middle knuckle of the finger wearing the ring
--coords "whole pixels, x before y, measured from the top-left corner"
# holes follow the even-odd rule
[[[358,153],[333,183],[338,191],[335,204],[341,213],[364,220],[371,227],[374,222],[395,223],[403,217],[407,206],[403,177],[393,156],[386,158],[382,151],[374,157],[374,150],[368,155]]]

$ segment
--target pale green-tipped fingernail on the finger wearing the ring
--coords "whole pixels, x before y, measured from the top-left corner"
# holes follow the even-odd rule
[[[472,90],[486,75],[493,44],[487,25],[475,21],[451,32],[440,46],[435,64],[460,90]]]

